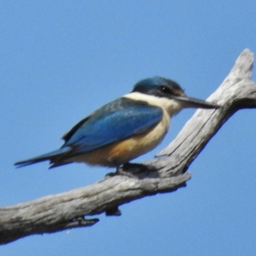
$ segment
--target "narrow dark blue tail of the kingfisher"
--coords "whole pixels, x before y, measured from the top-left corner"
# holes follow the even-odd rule
[[[58,150],[49,152],[47,154],[41,155],[41,156],[36,156],[36,157],[30,158],[30,159],[19,161],[19,162],[15,163],[14,165],[17,166],[17,168],[20,168],[20,167],[27,166],[30,164],[35,164],[35,163],[49,160],[52,163],[52,166],[50,168],[53,168],[56,166],[67,164],[67,163],[58,163],[58,159],[60,159],[61,156],[63,156],[64,154],[67,154],[68,152],[70,152],[70,148],[64,147],[64,148],[60,148]]]

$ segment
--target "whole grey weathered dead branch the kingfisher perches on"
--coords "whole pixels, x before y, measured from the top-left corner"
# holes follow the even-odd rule
[[[252,67],[253,54],[245,49],[227,78],[207,99],[222,108],[198,109],[177,138],[156,159],[144,163],[147,170],[130,166],[126,171],[131,177],[109,175],[84,188],[0,207],[0,244],[31,234],[92,226],[99,220],[85,217],[102,212],[120,215],[119,205],[186,186],[186,181],[191,178],[186,172],[189,165],[228,118],[239,109],[256,108]]]

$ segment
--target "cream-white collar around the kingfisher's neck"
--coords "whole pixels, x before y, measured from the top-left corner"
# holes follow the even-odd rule
[[[163,111],[167,112],[169,116],[177,115],[182,109],[182,105],[175,100],[147,95],[140,92],[131,92],[125,94],[123,97],[132,100],[142,100],[147,102],[148,105],[160,107]]]

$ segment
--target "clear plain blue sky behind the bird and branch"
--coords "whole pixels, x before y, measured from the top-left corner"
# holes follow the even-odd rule
[[[255,1],[1,1],[0,205],[92,184],[109,172],[20,159],[61,146],[76,122],[150,76],[206,99],[256,52]],[[194,111],[173,119],[154,157]],[[30,236],[1,255],[255,255],[256,109],[236,113],[191,164],[184,189],[100,215],[91,228]]]

